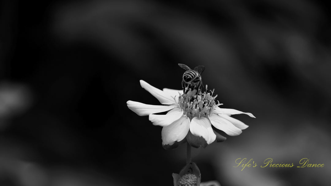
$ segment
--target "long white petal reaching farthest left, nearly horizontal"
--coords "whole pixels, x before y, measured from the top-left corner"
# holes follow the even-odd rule
[[[126,102],[127,107],[129,107],[130,110],[138,114],[139,116],[147,116],[150,114],[155,114],[159,112],[166,112],[168,110],[174,109],[177,107],[177,105],[147,105],[144,103],[139,103],[136,101],[127,101]]]

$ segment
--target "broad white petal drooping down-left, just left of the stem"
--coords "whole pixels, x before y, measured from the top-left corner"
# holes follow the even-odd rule
[[[186,116],[179,118],[170,125],[162,128],[162,144],[173,145],[175,141],[183,140],[189,130],[190,119]]]

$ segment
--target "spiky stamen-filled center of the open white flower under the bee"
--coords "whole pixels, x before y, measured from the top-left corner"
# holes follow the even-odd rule
[[[197,90],[188,91],[186,94],[182,94],[178,98],[180,108],[184,111],[187,117],[192,120],[194,117],[207,117],[211,112],[220,105],[216,104],[215,98],[217,95],[213,95],[214,90],[208,90],[206,85],[206,91],[197,93]]]

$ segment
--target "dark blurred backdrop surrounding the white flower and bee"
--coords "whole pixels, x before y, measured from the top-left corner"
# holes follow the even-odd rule
[[[159,104],[140,79],[181,89],[177,63],[204,65],[224,108],[257,117],[193,149],[202,181],[330,185],[330,16],[306,0],[1,1],[0,185],[172,185],[185,145],[164,150],[126,101]]]

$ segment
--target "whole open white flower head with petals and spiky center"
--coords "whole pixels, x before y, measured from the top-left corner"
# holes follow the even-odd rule
[[[213,95],[213,91],[208,91],[207,86],[204,93],[196,93],[194,90],[183,94],[183,90],[157,89],[143,80],[140,80],[140,85],[163,105],[148,105],[129,100],[126,102],[127,106],[139,116],[149,116],[153,125],[163,127],[161,133],[163,146],[173,145],[191,134],[193,134],[193,136],[191,135],[193,138],[194,136],[202,137],[207,144],[211,144],[215,141],[216,135],[218,138],[223,137],[213,130],[212,125],[230,136],[236,136],[248,126],[232,118],[231,115],[247,114],[255,118],[251,113],[218,107],[222,104],[215,102],[217,95]],[[155,114],[166,111],[168,112],[165,115]],[[191,146],[207,146],[207,144],[192,145],[195,143],[192,142],[192,137],[187,138]],[[225,139],[223,137],[223,140]]]

